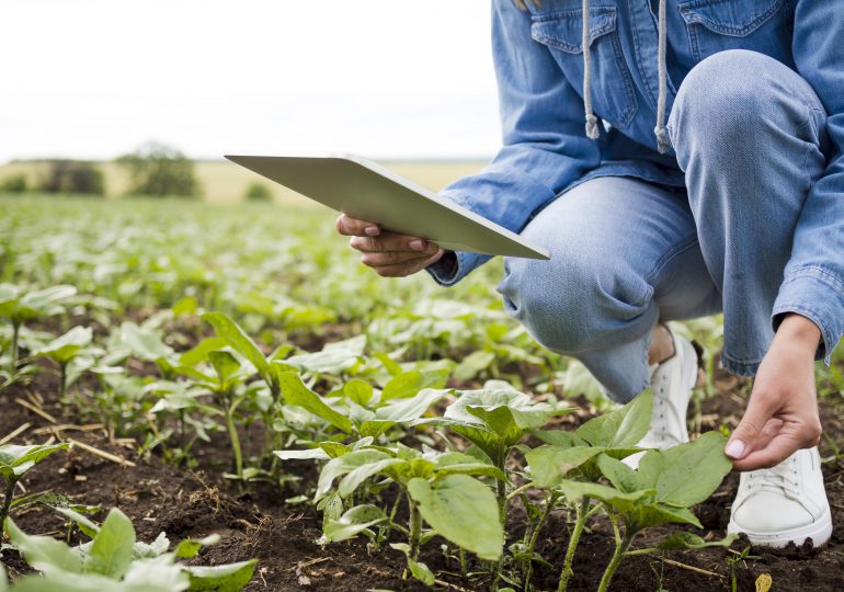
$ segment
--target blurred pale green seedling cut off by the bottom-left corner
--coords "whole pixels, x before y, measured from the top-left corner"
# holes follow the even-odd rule
[[[102,525],[72,510],[58,511],[76,522],[91,542],[70,547],[47,536],[27,535],[7,520],[10,540],[24,560],[42,572],[15,582],[13,592],[235,592],[247,585],[254,572],[255,559],[214,567],[176,562],[195,557],[203,546],[219,540],[218,535],[185,539],[168,551],[170,540],[164,533],[150,544],[138,542],[132,521],[117,509],[109,512]]]

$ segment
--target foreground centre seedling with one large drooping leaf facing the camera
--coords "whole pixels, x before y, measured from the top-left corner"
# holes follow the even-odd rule
[[[323,510],[326,540],[343,540],[386,523],[407,537],[408,543],[394,545],[404,553],[408,568],[417,579],[433,583],[433,574],[419,561],[420,546],[433,534],[477,554],[482,559],[497,561],[504,544],[504,530],[499,521],[499,508],[490,488],[476,477],[505,479],[503,473],[477,457],[450,452],[421,453],[402,444],[372,446],[365,439],[357,447],[334,442],[312,451],[281,451],[283,459],[322,458],[322,467],[315,501]],[[408,526],[392,522],[392,511],[355,505],[344,511],[345,502],[358,488],[375,477],[395,482],[408,503]],[[332,492],[334,480],[340,479]],[[423,520],[432,527],[423,532]]]

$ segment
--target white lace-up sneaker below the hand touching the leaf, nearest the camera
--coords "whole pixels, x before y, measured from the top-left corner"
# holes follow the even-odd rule
[[[832,536],[818,447],[797,451],[769,469],[742,473],[728,533],[744,533],[754,545],[785,547],[807,538],[820,547]]]

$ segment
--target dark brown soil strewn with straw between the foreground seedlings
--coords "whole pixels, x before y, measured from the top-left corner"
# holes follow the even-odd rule
[[[525,384],[529,384],[525,377]],[[699,413],[692,423],[702,430],[718,429],[721,424],[734,426],[744,409],[742,392],[745,385],[721,377],[716,396],[703,400]],[[221,535],[217,545],[205,548],[196,559],[204,565],[217,565],[258,558],[254,578],[246,590],[331,590],[363,591],[426,590],[412,580],[403,580],[403,556],[385,545],[378,551],[367,549],[364,539],[320,546],[321,516],[310,503],[287,503],[295,496],[308,494],[316,473],[303,464],[304,477],[288,483],[284,491],[266,485],[240,486],[221,477],[228,457],[227,442],[216,437],[210,444],[202,442],[194,452],[198,466],[178,468],[159,456],[135,458],[137,444],[110,441],[104,430],[78,431],[61,429],[62,424],[92,421],[80,420],[78,414],[66,414],[58,403],[55,377],[38,374],[28,385],[13,385],[2,392],[5,401],[0,415],[0,436],[11,433],[24,423],[30,428],[16,444],[44,443],[50,436],[73,439],[101,451],[135,463],[122,466],[95,456],[80,446],[67,454],[54,454],[35,467],[23,480],[28,492],[52,490],[70,496],[80,503],[98,504],[104,510],[121,508],[134,521],[139,540],[151,540],[161,531],[175,543],[185,537],[202,537],[210,533]],[[28,401],[53,415],[56,423],[22,406]],[[577,400],[588,409],[584,400]],[[628,558],[613,580],[613,590],[755,590],[756,578],[771,574],[773,590],[844,589],[844,456],[836,451],[844,447],[841,394],[825,396],[820,401],[825,440],[821,454],[825,458],[823,473],[833,513],[832,539],[821,549],[811,545],[783,550],[750,548],[744,540],[732,545],[732,551],[706,549],[671,551]],[[590,417],[581,412],[566,418],[567,423],[579,423]],[[52,430],[49,430],[53,428]],[[41,430],[41,432],[38,432]],[[844,449],[844,448],[842,448]],[[223,466],[221,466],[223,465]],[[738,475],[730,475],[720,489],[695,513],[704,524],[705,537],[722,537],[729,520],[729,506],[735,494]],[[511,512],[507,531],[511,542],[524,532],[524,510],[516,505]],[[104,512],[99,515],[102,520]],[[98,519],[98,516],[94,516]],[[65,521],[46,506],[33,506],[14,515],[15,522],[27,533],[66,536]],[[652,530],[637,539],[635,548],[655,543],[674,527]],[[71,533],[71,540],[80,540]],[[551,515],[543,531],[537,551],[552,568],[537,566],[534,583],[538,590],[556,590],[562,555],[568,542],[567,516],[563,512]],[[441,551],[442,540],[424,547],[421,559],[437,573],[434,588],[441,590],[487,590],[488,579],[459,577],[459,565]],[[603,517],[595,517],[581,537],[574,560],[574,577],[570,590],[595,590],[613,549],[612,528]],[[3,551],[3,562],[11,577],[30,571],[14,551]],[[478,571],[470,560],[469,572]]]

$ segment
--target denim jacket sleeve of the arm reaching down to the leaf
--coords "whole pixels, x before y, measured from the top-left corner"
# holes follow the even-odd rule
[[[786,312],[821,330],[819,357],[830,362],[844,332],[844,12],[839,2],[800,0],[792,53],[799,73],[826,110],[830,158],[809,192],[795,230],[791,258],[773,310],[774,328]]]

